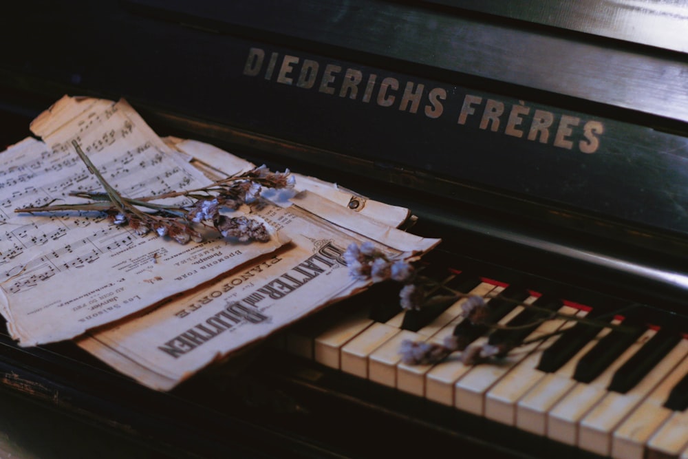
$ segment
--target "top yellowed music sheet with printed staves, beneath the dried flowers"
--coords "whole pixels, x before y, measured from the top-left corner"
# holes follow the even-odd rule
[[[125,101],[65,96],[34,120],[32,131],[43,142],[28,138],[0,153],[0,312],[21,345],[75,337],[287,242],[273,230],[266,243],[212,236],[182,246],[154,233],[136,235],[99,213],[14,213],[54,201],[83,202],[70,191],[102,190],[72,140],[126,197],[210,182]]]

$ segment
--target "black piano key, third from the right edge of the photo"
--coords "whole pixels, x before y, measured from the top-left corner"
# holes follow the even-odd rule
[[[622,325],[627,325],[623,321]],[[623,330],[612,330],[600,339],[576,364],[573,378],[580,383],[590,383],[606,370],[630,345],[645,332],[639,325],[630,325]]]

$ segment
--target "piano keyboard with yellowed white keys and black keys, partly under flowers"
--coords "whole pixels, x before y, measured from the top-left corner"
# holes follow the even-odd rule
[[[529,343],[497,361],[464,365],[460,352],[454,352],[440,363],[409,365],[401,361],[402,341],[443,343],[464,321],[465,299],[435,311],[408,313],[398,308],[399,287],[382,284],[374,286],[380,291],[368,292],[375,298],[373,310],[361,299],[331,308],[288,330],[283,346],[378,385],[600,456],[688,459],[685,330],[670,321],[648,327],[643,308],[612,317],[603,307],[589,310],[469,275],[451,277],[449,284],[486,301],[510,297],[499,306],[505,311],[502,325],[527,321],[524,306],[537,301],[577,317],[599,321],[606,315],[613,325],[626,328],[552,319],[522,332],[521,339]],[[473,345],[488,339],[484,333]]]

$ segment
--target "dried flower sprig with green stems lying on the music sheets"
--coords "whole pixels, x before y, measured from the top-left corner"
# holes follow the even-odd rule
[[[209,221],[224,237],[235,237],[241,242],[266,242],[270,239],[270,233],[262,222],[243,215],[228,217],[222,215],[221,210],[237,210],[243,204],[255,203],[264,188],[292,189],[294,187],[294,176],[290,175],[288,169],[279,173],[271,172],[267,167],[261,166],[217,180],[198,189],[172,191],[136,199],[125,198],[103,178],[76,140],[72,142],[72,145],[87,169],[103,186],[105,193],[73,192],[69,194],[89,199],[91,202],[80,204],[50,202],[44,206],[15,209],[15,212],[99,211],[105,213],[113,224],[128,224],[138,235],[155,231],[158,235],[169,236],[180,244],[186,244],[189,241],[201,242],[203,236],[193,228],[193,224],[206,224],[205,222]],[[159,203],[160,200],[179,196],[189,198],[191,204]],[[149,209],[149,211],[142,209]]]

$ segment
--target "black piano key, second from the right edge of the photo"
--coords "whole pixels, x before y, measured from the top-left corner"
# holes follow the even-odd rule
[[[682,336],[678,328],[663,327],[643,347],[616,370],[607,387],[625,394],[640,383],[659,361],[676,346]]]

